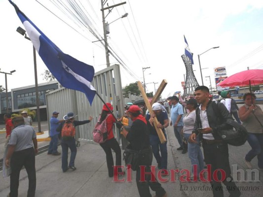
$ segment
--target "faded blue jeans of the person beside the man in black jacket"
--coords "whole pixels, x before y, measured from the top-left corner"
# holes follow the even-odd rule
[[[191,133],[184,133],[185,138],[188,140]],[[197,143],[188,142],[188,157],[191,161],[191,170],[193,173],[193,166],[197,165],[197,175],[204,169],[204,158],[200,147],[199,137],[196,138]]]

